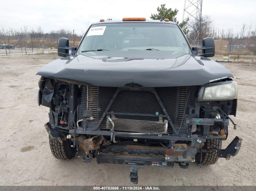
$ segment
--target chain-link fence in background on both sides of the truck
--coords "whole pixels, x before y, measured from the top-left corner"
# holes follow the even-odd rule
[[[79,41],[75,41],[77,47]],[[70,46],[73,41],[70,40]],[[202,46],[202,41],[191,43],[193,46]],[[12,53],[57,53],[58,39],[32,38],[22,36],[0,36],[0,54]],[[198,52],[200,53],[200,52]],[[256,56],[256,41],[240,39],[215,40],[215,54]]]

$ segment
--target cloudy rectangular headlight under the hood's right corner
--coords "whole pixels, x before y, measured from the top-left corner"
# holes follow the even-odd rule
[[[237,99],[238,85],[235,81],[225,81],[202,85],[198,101],[222,101]]]

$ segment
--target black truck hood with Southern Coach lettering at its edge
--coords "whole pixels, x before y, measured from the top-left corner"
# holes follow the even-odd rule
[[[233,77],[211,59],[160,50],[85,52],[50,62],[37,75],[108,87],[191,86]]]

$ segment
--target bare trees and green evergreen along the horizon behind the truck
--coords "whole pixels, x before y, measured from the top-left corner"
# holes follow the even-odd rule
[[[178,10],[172,10],[171,8],[165,8],[165,4],[161,5],[161,8],[157,8],[157,14],[151,14],[152,19],[160,18],[169,18],[170,21],[177,22],[176,14]],[[107,20],[111,20],[108,18]],[[89,27],[90,25],[87,24]],[[193,36],[194,33],[198,32],[197,23],[193,21],[183,21],[179,23],[183,31],[188,37]],[[85,34],[85,31],[82,31],[81,34],[75,34],[75,41],[80,41]],[[41,26],[38,26],[36,29],[28,28],[27,26],[15,29],[13,27],[2,28],[0,29],[0,35],[4,36],[29,36],[32,38],[49,38],[49,39],[59,39],[61,37],[66,37],[68,39],[73,39],[73,31],[60,29],[60,30],[51,30],[45,32]],[[233,28],[220,28],[211,20],[209,15],[202,16],[201,19],[201,36],[200,40],[205,37],[213,37],[214,39],[224,39],[224,40],[248,40],[256,42],[256,25],[243,23],[241,29],[238,31],[233,30]]]

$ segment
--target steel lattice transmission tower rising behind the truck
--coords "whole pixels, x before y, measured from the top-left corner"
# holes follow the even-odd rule
[[[188,21],[187,34],[188,41],[191,44],[199,44],[202,19],[202,1],[203,0],[185,0],[182,21]]]

